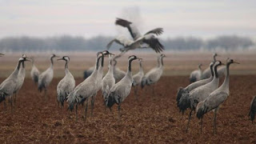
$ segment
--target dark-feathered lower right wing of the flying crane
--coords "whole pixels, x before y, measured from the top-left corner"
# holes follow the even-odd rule
[[[158,41],[158,38],[143,38],[143,42],[148,44],[156,53],[160,53],[162,50],[165,50],[164,46],[162,46],[162,44]]]

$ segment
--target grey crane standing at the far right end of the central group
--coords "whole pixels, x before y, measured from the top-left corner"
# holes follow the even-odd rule
[[[148,85],[148,86],[153,85],[154,83],[158,82],[158,80],[161,78],[162,71],[163,71],[162,58],[164,58],[164,57],[166,57],[166,55],[165,54],[161,54],[158,57],[158,66],[154,67],[153,69],[151,69],[142,78],[142,83],[141,83],[142,88],[144,86],[146,86],[146,85]],[[153,90],[153,94],[154,94],[154,86],[153,86],[152,90]]]

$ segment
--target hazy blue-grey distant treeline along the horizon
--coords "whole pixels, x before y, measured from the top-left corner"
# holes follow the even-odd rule
[[[8,37],[0,39],[2,52],[47,52],[47,51],[98,51],[105,50],[113,37],[98,36],[94,38],[59,36],[50,38]],[[178,37],[161,39],[166,50],[245,50],[255,43],[246,37],[218,36],[202,39],[194,37]],[[111,49],[118,50],[122,46],[114,44]]]

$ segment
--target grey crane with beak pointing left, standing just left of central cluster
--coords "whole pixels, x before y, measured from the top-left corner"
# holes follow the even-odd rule
[[[68,64],[70,62],[70,57],[64,56],[59,58],[58,60],[66,61],[65,64],[65,77],[62,78],[60,82],[58,82],[57,86],[57,102],[58,105],[61,103],[62,107],[64,107],[64,101],[66,101],[66,97],[74,90],[75,81],[73,75],[70,73]]]

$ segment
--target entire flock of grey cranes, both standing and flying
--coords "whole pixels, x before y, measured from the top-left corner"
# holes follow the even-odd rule
[[[58,61],[65,61],[65,77],[58,82],[57,86],[57,102],[58,106],[61,104],[63,108],[65,103],[68,104],[68,110],[74,110],[76,114],[76,120],[78,120],[78,105],[85,105],[85,115],[87,117],[88,105],[90,103],[90,114],[94,112],[94,102],[98,91],[102,90],[103,104],[106,108],[111,107],[114,104],[118,105],[118,116],[121,117],[121,105],[130,94],[131,87],[134,86],[135,98],[138,98],[138,86],[142,88],[144,86],[152,86],[154,94],[154,85],[162,76],[163,72],[163,58],[165,54],[159,54],[157,58],[158,65],[144,74],[142,67],[142,58],[138,58],[136,55],[130,55],[127,60],[127,70],[123,71],[117,67],[118,58],[126,54],[128,50],[134,50],[137,48],[151,48],[156,53],[161,53],[164,50],[164,46],[159,42],[156,36],[162,34],[162,28],[156,28],[150,30],[146,34],[139,33],[136,26],[132,22],[129,22],[122,18],[117,18],[116,25],[126,27],[130,32],[133,40],[126,37],[117,37],[107,44],[107,50],[100,51],[96,54],[95,65],[86,71],[86,78],[83,82],[77,86],[75,84],[74,76],[70,73],[69,62],[70,57],[63,56],[58,58],[57,55],[52,54],[50,56],[50,67],[40,73],[38,68],[34,65],[34,58],[28,58],[26,54],[22,54],[22,57],[18,59],[18,64],[14,71],[8,78],[6,78],[0,85],[0,102],[4,102],[6,107],[6,99],[9,99],[11,110],[13,110],[13,95],[14,104],[18,96],[18,91],[22,88],[25,76],[25,62],[32,62],[32,69],[30,76],[32,80],[38,84],[38,90],[42,92],[44,90],[45,97],[47,95],[47,88],[50,86],[50,82],[54,78],[54,58],[58,58]],[[122,45],[120,54],[112,54],[108,50],[113,42],[117,42]],[[2,57],[3,54],[0,54]],[[190,109],[188,116],[188,122],[186,125],[186,131],[189,130],[190,118],[194,111],[196,117],[201,120],[201,132],[202,132],[202,119],[205,114],[214,111],[214,134],[217,133],[217,112],[219,106],[226,101],[226,98],[230,95],[229,81],[230,81],[230,64],[237,63],[233,59],[228,58],[226,64],[216,60],[218,54],[213,55],[213,62],[210,62],[210,66],[202,71],[202,64],[198,65],[198,70],[194,70],[190,74],[190,85],[185,88],[180,87],[177,93],[177,106],[179,110],[184,114],[187,109]],[[103,76],[104,59],[108,58],[108,71]],[[132,62],[138,60],[139,70],[137,74],[132,75]],[[226,66],[223,66],[226,65]],[[225,75],[225,80],[221,86],[219,86],[219,78]],[[250,105],[250,118],[254,122],[256,113],[256,97]]]

